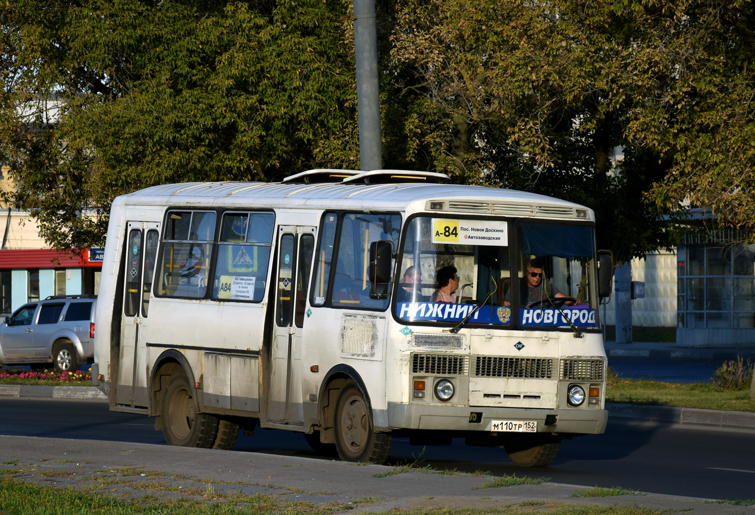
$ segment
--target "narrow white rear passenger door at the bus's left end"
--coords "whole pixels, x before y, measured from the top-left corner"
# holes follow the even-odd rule
[[[148,338],[149,295],[152,291],[159,241],[156,222],[128,222],[121,341],[118,357],[116,404],[146,407],[146,341]]]

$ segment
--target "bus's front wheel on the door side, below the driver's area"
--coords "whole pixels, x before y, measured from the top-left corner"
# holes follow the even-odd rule
[[[383,464],[392,436],[375,433],[365,396],[356,384],[347,384],[336,403],[335,446],[343,461]]]

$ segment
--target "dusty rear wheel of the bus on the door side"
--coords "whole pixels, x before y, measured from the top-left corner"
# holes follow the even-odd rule
[[[183,370],[171,374],[162,397],[162,434],[169,446],[210,449],[217,437],[217,417],[200,413],[194,388]]]

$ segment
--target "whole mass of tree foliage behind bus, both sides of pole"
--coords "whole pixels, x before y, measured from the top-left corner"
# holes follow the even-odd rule
[[[75,249],[142,187],[359,168],[350,6],[6,2],[8,200]],[[752,2],[398,0],[377,15],[386,168],[587,205],[617,261],[673,244],[662,217],[685,200],[753,239]]]

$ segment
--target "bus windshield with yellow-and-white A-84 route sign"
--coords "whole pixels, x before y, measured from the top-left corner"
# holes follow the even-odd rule
[[[594,241],[589,224],[414,217],[394,286],[396,317],[430,325],[469,316],[470,326],[596,328]]]

